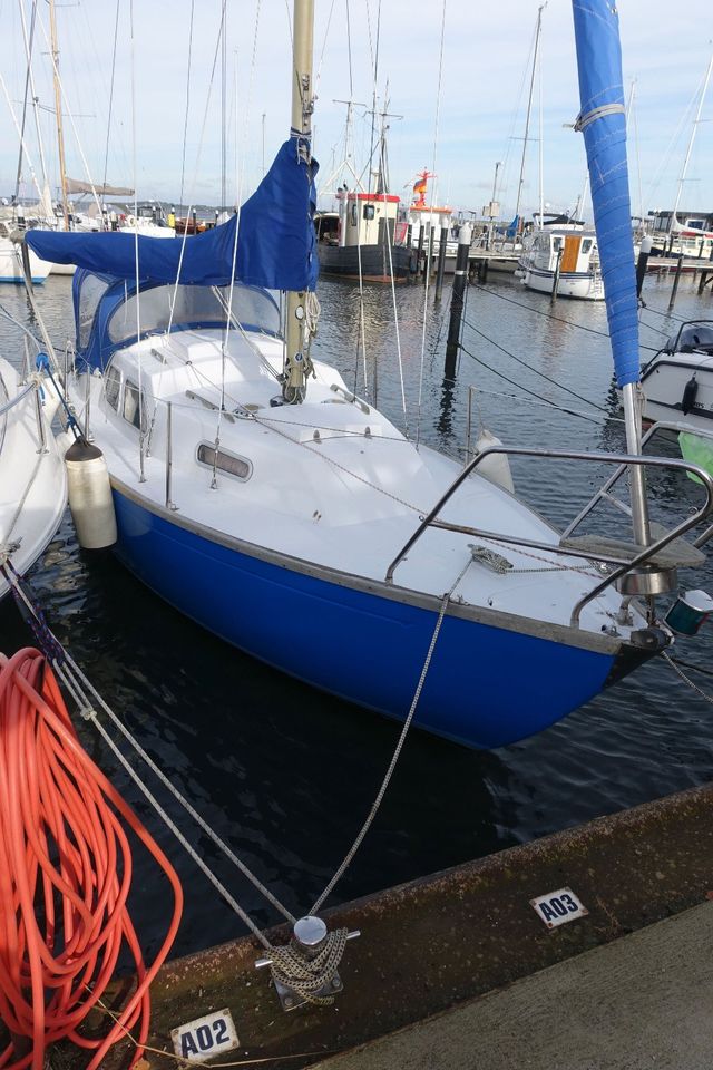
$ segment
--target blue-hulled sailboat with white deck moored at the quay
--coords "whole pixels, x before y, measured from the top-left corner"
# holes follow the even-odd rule
[[[644,466],[694,466],[641,456],[631,240],[611,251],[629,233],[617,16],[605,0],[574,6],[629,451],[494,446],[462,466],[410,440],[310,354],[311,7],[295,0],[291,136],[231,221],[185,242],[26,241],[78,265],[67,390],[106,457],[120,561],[285,673],[448,739],[500,747],[670,645],[655,597],[676,591],[677,566],[703,560],[681,536],[713,502],[713,480],[695,469],[703,505],[652,537]],[[574,459],[584,478],[593,463],[619,477],[631,469],[633,532],[579,534],[579,518],[556,529],[486,475],[502,454],[541,466]]]

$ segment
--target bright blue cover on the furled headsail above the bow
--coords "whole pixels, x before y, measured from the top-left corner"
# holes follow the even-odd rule
[[[612,354],[623,387],[638,381],[639,351],[619,22],[614,0],[573,0],[572,8],[582,108],[577,128],[587,148]]]

